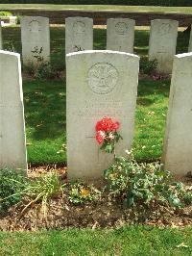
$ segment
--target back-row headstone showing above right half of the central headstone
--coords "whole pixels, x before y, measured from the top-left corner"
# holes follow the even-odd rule
[[[133,53],[135,21],[129,18],[109,18],[107,49]]]

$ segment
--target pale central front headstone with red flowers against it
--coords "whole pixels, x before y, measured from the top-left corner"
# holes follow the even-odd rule
[[[69,178],[103,176],[112,156],[100,150],[95,125],[104,116],[120,122],[117,155],[131,149],[139,57],[115,51],[66,56],[67,166]]]

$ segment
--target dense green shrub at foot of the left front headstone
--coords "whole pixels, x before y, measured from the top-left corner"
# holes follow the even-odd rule
[[[0,170],[0,213],[18,203],[22,198],[22,191],[27,185],[27,179],[18,170],[4,168]]]

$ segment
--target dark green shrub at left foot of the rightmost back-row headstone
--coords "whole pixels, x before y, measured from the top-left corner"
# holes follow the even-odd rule
[[[156,73],[157,61],[149,61],[147,58],[140,59],[140,72],[147,75]]]

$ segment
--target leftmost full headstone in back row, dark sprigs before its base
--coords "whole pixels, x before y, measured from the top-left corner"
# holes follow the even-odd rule
[[[24,64],[36,63],[36,58],[50,61],[49,18],[26,16],[21,18],[22,58]]]

